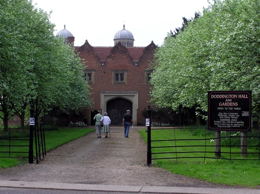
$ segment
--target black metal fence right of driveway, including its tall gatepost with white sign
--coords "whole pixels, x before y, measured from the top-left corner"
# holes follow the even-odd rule
[[[256,145],[240,145],[240,147],[254,147],[256,148],[257,151],[255,152],[233,152],[231,151],[232,147],[237,147],[237,145],[231,145],[231,139],[233,138],[241,138],[241,137],[237,137],[237,136],[233,136],[230,134],[228,136],[225,137],[211,137],[211,138],[206,138],[206,133],[207,133],[207,129],[206,128],[197,128],[197,129],[204,129],[205,130],[205,137],[200,138],[200,139],[179,139],[178,137],[176,137],[175,134],[175,130],[176,128],[173,128],[173,134],[172,134],[172,138],[170,139],[161,139],[161,140],[151,140],[151,130],[169,130],[169,129],[151,129],[151,109],[150,106],[148,106],[148,110],[147,110],[147,115],[148,115],[148,119],[149,119],[149,125],[147,126],[147,165],[150,165],[152,163],[152,160],[161,160],[161,159],[179,159],[179,158],[204,158],[204,162],[205,162],[205,158],[212,158],[212,159],[219,159],[220,157],[216,156],[216,151],[214,151],[214,147],[221,147],[221,145],[207,145],[206,141],[211,141],[211,140],[217,140],[217,139],[224,139],[224,138],[228,138],[229,139],[229,145],[226,145],[225,147],[228,147],[230,151],[226,151],[226,152],[221,152],[222,154],[228,154],[230,157],[229,158],[223,158],[221,157],[221,159],[224,160],[260,160],[260,128],[259,127],[253,127],[256,128],[258,131],[258,135],[255,136],[246,136],[245,138],[256,138],[258,140],[258,143]],[[185,128],[182,128],[185,129]],[[188,129],[188,128],[187,128]],[[192,130],[194,130],[194,128],[191,128]],[[186,145],[177,145],[177,142],[187,142]],[[194,144],[192,142],[202,142],[202,144],[197,145]],[[156,143],[156,142],[172,142],[171,145],[167,145],[167,146],[154,146],[152,145],[152,143]],[[177,151],[177,148],[185,148],[185,147],[190,147],[190,148],[195,148],[195,147],[201,147],[202,150],[201,151]],[[223,146],[224,147],[224,146]],[[163,148],[165,150],[162,151],[157,151],[156,149],[158,148]],[[172,148],[172,151],[168,151],[167,148]],[[211,149],[210,149],[211,148]],[[212,150],[213,148],[213,150]],[[209,150],[209,151],[206,151]],[[188,156],[188,155],[183,155],[185,153],[202,153],[204,154],[203,156]],[[215,153],[215,157],[212,157],[211,155],[208,156],[206,154],[212,154]],[[156,157],[156,158],[152,158],[152,155],[167,155],[166,157]],[[172,154],[170,157],[168,157],[168,154]],[[250,155],[254,155],[253,158],[246,158],[246,157],[241,157],[239,159],[237,158],[231,158],[231,155],[233,154],[250,154]],[[175,156],[174,156],[175,155]],[[180,155],[180,156],[179,156]]]

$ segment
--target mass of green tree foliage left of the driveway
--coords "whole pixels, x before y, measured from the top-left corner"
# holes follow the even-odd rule
[[[74,48],[53,34],[50,15],[27,0],[0,0],[0,117],[4,127],[34,105],[79,110],[92,104],[83,64]],[[30,107],[29,107],[30,108]]]

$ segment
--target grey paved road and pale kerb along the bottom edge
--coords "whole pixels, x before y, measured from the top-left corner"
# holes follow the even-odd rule
[[[7,193],[193,193],[193,194],[259,194],[260,190],[248,188],[194,188],[129,185],[89,185],[28,181],[1,181],[0,191]],[[43,192],[46,191],[46,192]]]

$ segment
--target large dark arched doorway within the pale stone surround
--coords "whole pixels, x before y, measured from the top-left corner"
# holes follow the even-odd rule
[[[125,98],[114,98],[107,102],[107,114],[112,125],[122,124],[127,110],[132,114],[133,103]]]

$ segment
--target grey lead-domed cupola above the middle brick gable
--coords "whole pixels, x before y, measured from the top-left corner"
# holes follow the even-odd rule
[[[121,42],[125,47],[133,47],[134,46],[134,36],[132,32],[125,29],[125,24],[123,25],[123,29],[115,33],[114,37],[115,45]]]

